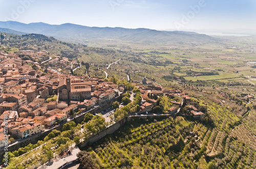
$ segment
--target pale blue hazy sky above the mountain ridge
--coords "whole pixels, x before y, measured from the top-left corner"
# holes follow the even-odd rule
[[[149,29],[255,29],[255,0],[0,0],[0,21]]]

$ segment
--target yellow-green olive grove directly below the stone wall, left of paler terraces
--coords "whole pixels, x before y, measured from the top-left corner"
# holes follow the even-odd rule
[[[189,136],[194,128],[199,135],[206,130],[201,124],[183,118],[126,122],[122,129],[86,150],[102,168],[195,168],[204,150],[200,149],[199,141]],[[183,140],[187,136],[185,144]],[[190,152],[191,156],[183,157],[183,153]]]

